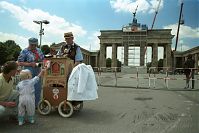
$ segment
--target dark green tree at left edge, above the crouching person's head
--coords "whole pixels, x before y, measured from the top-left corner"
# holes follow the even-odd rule
[[[3,65],[6,61],[17,60],[21,48],[13,40],[7,40],[6,42],[0,42],[0,65]]]

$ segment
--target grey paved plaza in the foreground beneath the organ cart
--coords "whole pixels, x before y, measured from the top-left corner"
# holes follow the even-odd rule
[[[148,88],[148,79],[132,74],[102,73],[99,98],[84,101],[84,108],[71,118],[61,117],[56,110],[47,116],[36,113],[36,123],[18,126],[16,121],[1,120],[1,133],[198,133],[199,88],[183,89],[184,80],[156,81]],[[131,78],[130,78],[130,77]],[[144,75],[140,75],[144,76]],[[158,77],[161,75],[158,75]],[[182,78],[183,75],[177,75]],[[97,76],[96,76],[97,77]],[[196,76],[197,77],[197,76]],[[153,82],[153,81],[152,81]],[[123,86],[123,87],[122,87]]]

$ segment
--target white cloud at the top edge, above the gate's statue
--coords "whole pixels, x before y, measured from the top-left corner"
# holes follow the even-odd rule
[[[159,0],[160,1],[160,0]],[[136,7],[138,6],[137,13],[154,13],[157,9],[158,0],[110,0],[111,7],[115,9],[116,12],[135,12]],[[160,8],[163,8],[163,0],[161,0]]]

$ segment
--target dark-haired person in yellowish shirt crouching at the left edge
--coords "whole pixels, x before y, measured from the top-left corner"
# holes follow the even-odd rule
[[[0,105],[1,117],[17,116],[17,104],[19,93],[14,89],[14,79],[18,65],[15,61],[7,61],[2,66],[0,73]]]

